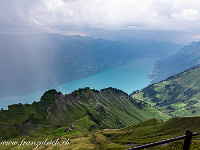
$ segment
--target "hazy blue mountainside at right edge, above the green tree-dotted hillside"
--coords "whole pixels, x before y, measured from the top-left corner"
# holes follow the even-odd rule
[[[184,46],[176,54],[159,60],[155,65],[154,74],[151,75],[152,82],[160,82],[199,64],[200,42],[193,42]]]

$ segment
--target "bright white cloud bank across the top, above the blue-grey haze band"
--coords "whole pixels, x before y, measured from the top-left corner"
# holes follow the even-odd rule
[[[199,0],[0,0],[0,24],[52,31],[199,30]],[[3,8],[3,9],[2,9]],[[6,27],[5,27],[6,28]],[[9,29],[8,29],[9,30]]]

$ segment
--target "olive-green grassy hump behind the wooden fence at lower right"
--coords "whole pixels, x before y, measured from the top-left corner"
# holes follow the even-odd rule
[[[199,124],[200,117],[172,118],[166,122],[151,119],[122,129],[105,129],[103,134],[114,143],[143,145],[184,135],[187,129],[200,133]],[[193,137],[193,142],[196,143],[195,146],[200,148],[199,136]],[[158,146],[157,148],[170,149],[170,147],[176,147],[177,145],[183,146],[182,143],[181,141],[174,145]]]

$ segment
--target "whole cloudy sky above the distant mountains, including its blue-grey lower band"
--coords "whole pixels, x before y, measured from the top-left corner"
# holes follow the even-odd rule
[[[0,33],[200,40],[199,0],[0,0]]]

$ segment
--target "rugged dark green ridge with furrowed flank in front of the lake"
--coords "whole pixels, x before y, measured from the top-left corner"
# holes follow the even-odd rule
[[[0,111],[0,124],[63,125],[89,116],[100,128],[120,128],[136,122],[167,115],[136,101],[121,90],[79,89],[63,95],[56,90],[44,93],[39,102],[8,106]]]

